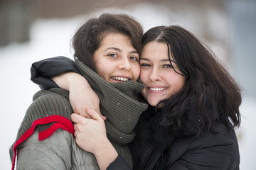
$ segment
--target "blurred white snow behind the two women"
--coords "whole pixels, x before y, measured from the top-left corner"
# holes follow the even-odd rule
[[[144,31],[154,26],[176,24],[191,30],[191,32],[195,33],[199,38],[203,38],[201,30],[198,27],[201,21],[197,19],[197,17],[194,17],[198,16],[198,13],[195,11],[181,12],[182,14],[178,13],[180,14],[178,15],[177,11],[171,13],[165,6],[152,6],[151,4],[139,4],[122,9],[107,8],[103,11],[110,13],[128,13],[142,23]],[[91,13],[91,15],[99,16],[103,11],[95,11],[95,13]],[[190,15],[187,15],[188,13],[190,13]],[[73,58],[73,51],[70,49],[70,39],[74,35],[75,30],[77,30],[87,18],[92,16],[37,20],[31,27],[31,40],[29,42],[11,43],[10,45],[0,47],[0,94],[2,96],[0,99],[2,108],[2,120],[0,124],[1,169],[11,169],[9,147],[16,139],[16,132],[23,120],[26,109],[32,102],[33,94],[39,90],[38,86],[30,81],[31,64],[38,60],[58,55]],[[230,30],[230,23],[227,16],[222,15],[219,11],[211,11],[208,17],[211,18],[208,24],[213,35],[222,38],[230,38],[229,35],[232,37],[235,33],[235,28]],[[222,27],[222,34],[217,31],[220,27]],[[255,35],[252,36],[255,37]],[[206,44],[220,57],[220,60],[223,61],[231,74],[236,75],[234,70],[237,70],[236,63],[239,65],[239,62],[234,62],[232,59],[230,60],[230,58],[226,57],[228,52],[223,50],[223,45],[218,42],[206,42]],[[254,66],[255,64],[256,63],[254,63]],[[253,75],[255,72],[251,72],[250,74]],[[245,76],[248,76],[248,74]],[[252,77],[250,77],[250,79],[252,79]],[[253,79],[255,81],[255,78]],[[247,93],[243,96],[242,106],[240,107],[240,111],[243,115],[242,125],[241,128],[237,130],[240,144],[240,169],[242,170],[256,169],[256,135],[253,130],[253,126],[256,123],[256,98],[254,95],[250,95],[249,92],[250,91],[247,90]]]

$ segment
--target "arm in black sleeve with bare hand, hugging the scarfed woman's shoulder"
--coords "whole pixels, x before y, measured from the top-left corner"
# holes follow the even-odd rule
[[[53,57],[34,62],[31,67],[31,80],[40,85],[41,89],[59,86],[70,91],[70,103],[75,113],[90,118],[85,112],[85,106],[100,113],[100,99],[86,79],[79,74],[73,60],[68,57]],[[104,116],[102,118],[105,119]]]

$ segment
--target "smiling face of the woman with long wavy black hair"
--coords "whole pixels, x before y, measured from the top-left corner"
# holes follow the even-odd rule
[[[172,59],[171,64],[176,72],[182,74]],[[180,91],[185,83],[185,77],[177,74],[171,64],[166,43],[152,41],[143,47],[140,79],[145,87],[142,96],[151,106]]]

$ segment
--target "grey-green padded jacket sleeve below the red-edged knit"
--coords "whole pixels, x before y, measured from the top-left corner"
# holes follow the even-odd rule
[[[46,140],[39,141],[36,130],[18,147],[16,169],[71,169],[71,137],[69,132],[60,129]]]

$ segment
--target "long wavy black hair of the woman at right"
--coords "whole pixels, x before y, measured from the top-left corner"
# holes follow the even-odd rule
[[[186,77],[178,93],[159,102],[164,115],[161,125],[175,137],[215,132],[215,123],[228,130],[240,125],[240,86],[206,45],[180,26],[151,28],[142,38],[142,47],[151,41],[166,43],[169,60],[173,57]]]

